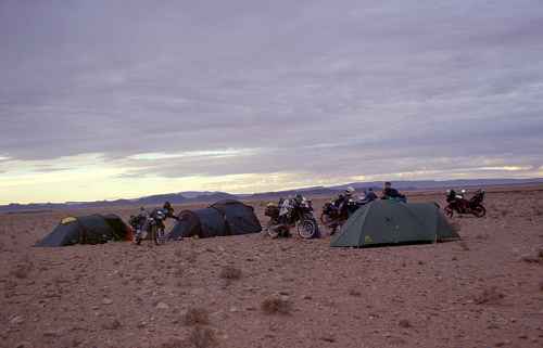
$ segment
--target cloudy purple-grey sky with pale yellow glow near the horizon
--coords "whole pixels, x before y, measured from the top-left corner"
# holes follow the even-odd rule
[[[543,5],[0,1],[0,204],[543,177]]]

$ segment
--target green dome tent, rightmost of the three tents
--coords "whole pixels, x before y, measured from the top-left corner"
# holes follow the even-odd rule
[[[434,203],[375,201],[356,210],[330,246],[365,247],[459,239]]]

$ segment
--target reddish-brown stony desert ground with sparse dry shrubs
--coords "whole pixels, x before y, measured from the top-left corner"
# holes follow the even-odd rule
[[[65,216],[137,207],[3,214],[0,347],[543,347],[543,186],[485,206],[453,218],[462,241],[363,249],[263,234],[36,248]]]

